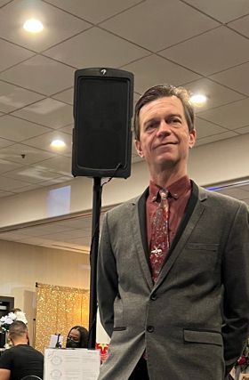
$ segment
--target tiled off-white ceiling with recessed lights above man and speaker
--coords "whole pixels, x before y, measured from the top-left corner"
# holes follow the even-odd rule
[[[22,29],[31,17],[44,23],[41,34]],[[73,181],[76,69],[132,71],[135,100],[162,83],[205,93],[208,101],[197,109],[197,146],[240,134],[248,138],[248,0],[0,0],[0,36],[1,198]],[[57,137],[66,142],[60,152],[50,147]],[[240,190],[246,199],[248,185]],[[54,232],[47,247],[67,239],[79,250],[89,245],[89,218],[52,223],[53,230],[47,225]],[[9,237],[1,233],[1,239],[43,245],[45,228],[32,236],[30,229],[38,227],[26,227],[28,241],[18,238],[24,229],[4,232]]]

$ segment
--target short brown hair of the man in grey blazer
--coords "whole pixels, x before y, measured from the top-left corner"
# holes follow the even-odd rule
[[[155,85],[150,87],[141,98],[137,101],[134,112],[134,133],[135,139],[140,140],[140,111],[141,108],[150,101],[156,101],[159,98],[176,96],[181,100],[184,114],[189,126],[189,132],[194,129],[195,112],[190,102],[190,93],[184,87],[174,87],[173,85]]]

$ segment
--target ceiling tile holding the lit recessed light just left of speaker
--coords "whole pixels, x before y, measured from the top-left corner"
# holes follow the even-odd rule
[[[61,148],[60,150],[56,150],[50,146],[53,140],[63,140],[66,143],[66,146]],[[25,141],[25,143],[30,147],[39,148],[41,150],[48,150],[52,153],[59,153],[64,155],[65,153],[71,153],[72,151],[72,141],[71,136],[68,133],[63,133],[60,131],[52,131],[49,133],[45,133],[42,136],[34,137],[33,139],[29,139]]]

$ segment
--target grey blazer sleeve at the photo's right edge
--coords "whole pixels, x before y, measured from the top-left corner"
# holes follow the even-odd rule
[[[224,359],[226,373],[236,363],[249,335],[249,213],[240,203],[230,226],[222,261],[224,284]]]

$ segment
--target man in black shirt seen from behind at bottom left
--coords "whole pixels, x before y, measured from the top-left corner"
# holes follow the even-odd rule
[[[28,328],[20,320],[9,329],[13,347],[0,357],[0,380],[20,380],[24,376],[44,376],[44,355],[28,345]]]

